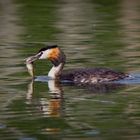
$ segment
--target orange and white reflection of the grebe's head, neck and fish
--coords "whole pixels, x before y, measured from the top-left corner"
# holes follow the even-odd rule
[[[57,118],[58,120],[61,120],[61,117],[64,115],[64,105],[63,105],[63,90],[60,85],[55,80],[49,80],[48,81],[48,87],[49,87],[49,98],[38,98],[37,103],[37,109],[40,114],[42,114],[42,117],[46,118]],[[34,94],[34,80],[32,80],[28,85],[27,90],[27,103],[28,104],[34,104],[33,103],[33,94]],[[46,125],[47,126],[47,125]],[[61,128],[59,126],[56,127],[46,127],[43,128],[42,133],[46,134],[58,134],[60,133]]]

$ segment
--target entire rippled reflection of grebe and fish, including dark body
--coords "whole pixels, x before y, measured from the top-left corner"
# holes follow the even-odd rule
[[[32,80],[30,84],[28,85],[28,91],[27,91],[27,101],[30,104],[34,104],[32,101],[33,99],[33,93],[34,93],[34,84],[36,81]],[[41,82],[41,81],[40,81]],[[65,115],[65,108],[64,108],[64,98],[63,98],[63,87],[71,86],[72,88],[84,88],[88,89],[89,96],[95,95],[95,94],[106,94],[106,93],[112,93],[113,91],[116,91],[117,89],[120,89],[124,87],[124,85],[118,84],[118,83],[104,83],[104,84],[94,84],[94,85],[73,85],[72,83],[60,83],[56,80],[48,80],[45,82],[48,84],[49,88],[49,98],[38,98],[38,103],[35,106],[37,106],[37,109],[41,117],[46,118],[52,118],[53,121],[68,123],[69,125],[71,122],[65,122],[64,115]],[[83,89],[83,90],[84,90]],[[87,93],[88,94],[88,93]],[[75,91],[75,98],[79,96],[76,95]],[[82,96],[82,93],[81,93]],[[50,122],[51,123],[51,122]],[[66,126],[68,125],[66,124]],[[71,124],[73,126],[73,124]],[[75,125],[73,126],[75,128]],[[56,126],[48,126],[46,124],[45,128],[41,129],[41,132],[44,134],[49,135],[58,135],[62,132],[62,128],[59,125]]]

